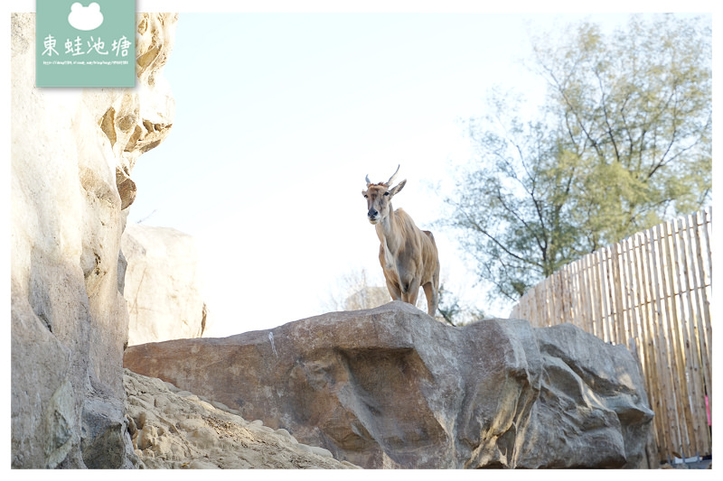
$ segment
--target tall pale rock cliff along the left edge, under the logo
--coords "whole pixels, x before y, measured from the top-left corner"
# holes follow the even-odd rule
[[[137,156],[172,123],[175,21],[137,16],[136,88],[34,88],[35,17],[12,14],[12,467],[133,466],[122,210]]]

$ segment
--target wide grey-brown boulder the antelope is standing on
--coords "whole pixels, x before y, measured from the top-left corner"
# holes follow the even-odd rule
[[[646,467],[633,357],[573,326],[453,328],[395,301],[129,347],[124,365],[362,467]]]

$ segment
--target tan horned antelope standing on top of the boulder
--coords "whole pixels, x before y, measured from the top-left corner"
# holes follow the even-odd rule
[[[402,180],[395,187],[391,183],[397,171],[386,182],[374,184],[366,176],[367,217],[379,236],[379,262],[391,299],[417,304],[419,287],[427,296],[427,313],[434,317],[439,302],[439,256],[435,237],[428,230],[420,230],[403,209],[394,210],[391,199],[407,184]]]

